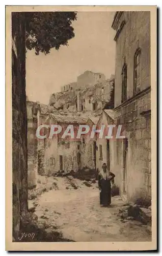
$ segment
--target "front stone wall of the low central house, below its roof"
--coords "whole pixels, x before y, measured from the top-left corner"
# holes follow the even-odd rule
[[[71,117],[69,117],[71,118]],[[49,120],[50,123],[50,120]],[[57,122],[55,121],[55,124]],[[64,131],[69,123],[57,123],[62,126],[62,132],[59,135],[53,135],[52,139],[45,139],[45,173],[52,174],[61,170],[61,158],[62,158],[62,170],[70,172],[70,170],[78,170],[82,167],[81,163],[81,147],[80,140],[71,139],[71,136],[67,136],[65,139],[61,139]],[[74,133],[77,131],[78,124],[74,124]],[[80,154],[80,163],[79,161]]]

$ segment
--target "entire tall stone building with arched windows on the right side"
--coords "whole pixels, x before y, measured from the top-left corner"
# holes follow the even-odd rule
[[[151,196],[150,12],[116,12],[115,123],[112,171],[124,200]],[[152,84],[152,86],[154,86]]]

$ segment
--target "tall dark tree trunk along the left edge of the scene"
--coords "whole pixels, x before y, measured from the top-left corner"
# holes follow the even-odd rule
[[[27,114],[25,94],[24,13],[12,12],[12,168],[13,237],[28,210]]]

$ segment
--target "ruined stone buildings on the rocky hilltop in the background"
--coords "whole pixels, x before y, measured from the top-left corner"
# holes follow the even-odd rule
[[[53,93],[49,99],[51,112],[96,112],[101,113],[110,102],[110,92],[114,76],[105,80],[101,73],[85,71],[72,82],[61,87],[61,92]]]

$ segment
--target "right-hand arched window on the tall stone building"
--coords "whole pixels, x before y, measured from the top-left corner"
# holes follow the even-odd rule
[[[138,48],[134,54],[134,88],[133,93],[137,94],[141,86],[141,49]]]

